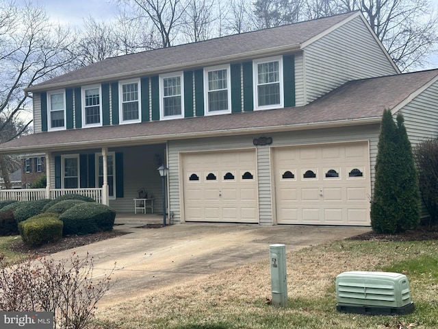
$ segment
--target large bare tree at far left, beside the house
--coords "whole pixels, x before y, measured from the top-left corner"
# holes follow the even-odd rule
[[[8,132],[28,106],[30,97],[23,89],[63,71],[73,61],[71,42],[69,32],[51,25],[41,7],[0,3],[0,143],[28,129],[31,120]]]

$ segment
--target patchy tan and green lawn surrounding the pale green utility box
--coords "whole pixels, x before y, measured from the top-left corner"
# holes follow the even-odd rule
[[[335,278],[344,271],[406,273],[415,311],[396,316],[338,313]],[[437,275],[437,241],[335,241],[287,250],[286,308],[266,304],[271,297],[267,256],[258,263],[99,308],[94,328],[407,329],[409,324],[438,328]]]

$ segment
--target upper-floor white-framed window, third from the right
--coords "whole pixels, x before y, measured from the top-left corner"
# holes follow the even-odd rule
[[[159,76],[161,119],[182,118],[184,114],[183,73]]]

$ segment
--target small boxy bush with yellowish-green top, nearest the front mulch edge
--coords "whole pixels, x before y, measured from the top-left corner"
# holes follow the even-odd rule
[[[27,245],[36,247],[62,238],[62,221],[56,217],[30,218],[18,223],[21,239]]]

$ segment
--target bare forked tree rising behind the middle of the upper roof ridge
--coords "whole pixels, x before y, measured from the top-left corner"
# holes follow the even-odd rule
[[[161,36],[161,47],[170,47],[177,37],[187,5],[183,0],[118,0],[131,5],[138,17],[146,17]]]

